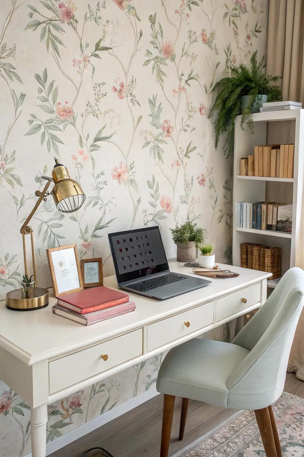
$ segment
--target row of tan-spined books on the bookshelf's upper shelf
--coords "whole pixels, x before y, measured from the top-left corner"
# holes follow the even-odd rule
[[[294,177],[294,144],[254,146],[254,155],[240,161],[241,176]]]

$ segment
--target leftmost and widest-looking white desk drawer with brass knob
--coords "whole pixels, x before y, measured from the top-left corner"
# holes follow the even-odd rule
[[[143,330],[75,352],[49,363],[50,394],[116,367],[143,353]],[[107,360],[101,358],[107,354]]]

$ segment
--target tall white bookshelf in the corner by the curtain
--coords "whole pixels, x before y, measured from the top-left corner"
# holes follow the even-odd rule
[[[302,260],[301,218],[304,181],[304,110],[286,110],[252,114],[253,135],[235,121],[233,169],[233,232],[232,261],[241,265],[240,245],[244,242],[262,243],[282,248],[282,275]],[[254,154],[259,144],[294,143],[294,178],[241,176],[240,159]],[[276,201],[293,205],[292,233],[255,230],[236,226],[235,202]],[[279,279],[268,280],[274,288]]]

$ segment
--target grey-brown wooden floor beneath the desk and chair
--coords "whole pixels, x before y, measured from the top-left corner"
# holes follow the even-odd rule
[[[287,373],[285,391],[304,398],[304,382],[294,373]],[[159,457],[160,430],[163,396],[147,401],[129,413],[109,422],[83,436],[70,445],[51,454],[51,457],[80,457],[90,447],[100,446],[113,454],[113,457]],[[198,401],[190,401],[188,418],[183,441],[178,440],[180,420],[179,398],[175,401],[175,414],[169,455],[173,455],[207,431],[220,424],[235,412]],[[88,457],[101,457],[100,451],[91,452]]]

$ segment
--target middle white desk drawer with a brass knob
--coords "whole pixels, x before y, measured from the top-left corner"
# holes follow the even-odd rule
[[[147,352],[213,323],[213,302],[148,325]],[[187,327],[185,322],[189,322]]]

